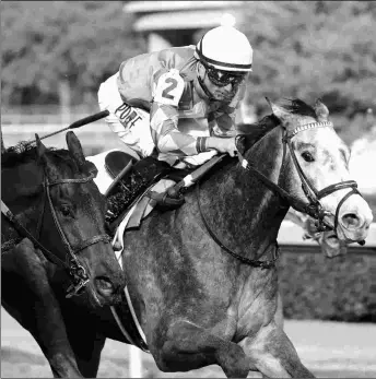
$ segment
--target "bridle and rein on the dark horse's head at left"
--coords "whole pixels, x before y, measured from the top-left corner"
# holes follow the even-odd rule
[[[67,297],[72,297],[74,295],[80,295],[83,292],[83,288],[89,283],[90,279],[86,273],[85,268],[80,264],[77,254],[87,248],[89,246],[92,246],[97,242],[107,242],[109,244],[109,236],[106,234],[96,235],[94,237],[87,238],[79,246],[71,246],[69,242],[60,223],[58,220],[58,216],[56,214],[56,210],[52,204],[51,196],[50,196],[50,187],[58,186],[58,185],[66,185],[66,183],[85,183],[92,180],[95,177],[94,173],[92,173],[89,177],[82,178],[82,179],[59,179],[56,181],[49,181],[48,177],[45,173],[43,187],[44,187],[44,199],[42,204],[42,213],[38,218],[37,223],[37,229],[36,229],[36,237],[34,237],[21,223],[20,221],[14,216],[14,214],[9,210],[9,208],[1,201],[1,212],[10,220],[10,222],[14,225],[15,229],[20,233],[21,236],[27,237],[33,241],[35,246],[37,246],[46,256],[46,258],[51,261],[52,263],[56,263],[57,265],[63,267],[68,270],[69,275],[72,279],[72,284],[67,289]],[[48,201],[49,209],[51,211],[51,215],[55,222],[55,226],[58,229],[58,233],[61,237],[61,240],[68,251],[68,254],[66,254],[66,260],[59,259],[56,254],[54,254],[51,251],[49,251],[47,248],[43,246],[42,242],[39,242],[39,236],[40,236],[40,229],[42,224],[44,220],[45,209],[46,209],[46,202]]]

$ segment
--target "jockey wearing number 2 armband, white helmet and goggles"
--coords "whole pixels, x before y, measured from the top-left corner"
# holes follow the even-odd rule
[[[252,48],[231,26],[210,29],[197,46],[142,54],[101,84],[106,122],[142,157],[184,168],[236,154],[235,110],[251,71]]]

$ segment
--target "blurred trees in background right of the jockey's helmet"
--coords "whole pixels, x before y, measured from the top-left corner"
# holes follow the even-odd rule
[[[376,2],[251,1],[240,29],[255,48],[250,100],[318,96],[349,118],[375,106]]]

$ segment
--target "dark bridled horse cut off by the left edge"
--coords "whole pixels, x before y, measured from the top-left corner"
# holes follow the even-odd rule
[[[35,337],[55,376],[79,377],[51,283],[59,280],[63,297],[81,293],[67,301],[93,310],[118,301],[125,280],[93,167],[73,132],[67,144],[47,150],[37,138],[36,146],[21,143],[1,156],[1,209],[15,220],[1,217],[1,304]]]

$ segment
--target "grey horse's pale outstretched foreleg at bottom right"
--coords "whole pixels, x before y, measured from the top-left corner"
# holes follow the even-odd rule
[[[269,378],[315,378],[302,364],[282,328],[274,322],[262,328],[256,336],[244,339],[239,345],[257,369]]]

